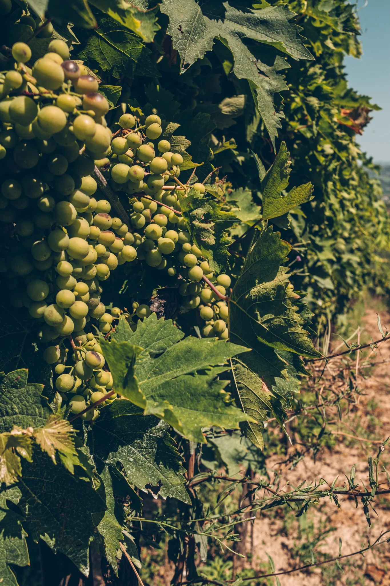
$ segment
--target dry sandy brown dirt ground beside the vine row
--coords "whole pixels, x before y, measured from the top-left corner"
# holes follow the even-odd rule
[[[390,314],[379,312],[382,325],[388,325],[390,329]],[[365,335],[373,339],[380,338],[377,327],[377,313],[371,307],[366,308],[363,318]],[[338,484],[342,485],[346,474],[349,475],[351,467],[356,465],[356,479],[363,480],[368,486],[368,455],[376,455],[379,442],[390,435],[390,342],[384,342],[378,346],[377,356],[371,353],[371,359],[375,366],[370,370],[370,375],[365,378],[367,369],[360,370],[358,364],[358,387],[363,391],[358,397],[357,404],[351,408],[343,423],[330,425],[334,431],[340,431],[353,436],[359,436],[361,430],[369,430],[371,439],[375,437],[378,444],[371,442],[351,441],[348,435],[336,434],[336,445],[329,449],[323,449],[317,456],[315,462],[310,456],[298,462],[294,469],[282,469],[282,477],[289,478],[290,482],[297,486],[305,479],[308,482],[324,478],[332,483],[333,479],[339,476]],[[332,362],[329,369],[334,368]],[[294,447],[289,451],[294,451]],[[268,460],[268,467],[275,465],[283,458],[272,457]],[[390,445],[386,446],[382,464],[390,462]],[[390,466],[389,466],[390,472]],[[385,477],[383,478],[385,481]],[[281,483],[281,486],[283,482]],[[253,529],[253,564],[267,562],[267,553],[274,559],[276,571],[288,570],[303,564],[300,561],[299,553],[305,553],[310,543],[316,539],[317,533],[321,530],[332,527],[330,533],[317,550],[337,556],[339,554],[339,539],[342,540],[342,554],[357,551],[367,545],[367,537],[374,541],[381,533],[381,530],[390,529],[390,499],[383,498],[376,500],[375,510],[378,516],[371,511],[371,527],[368,526],[361,505],[356,509],[353,498],[344,498],[340,501],[341,510],[328,500],[320,503],[316,509],[309,509],[306,519],[303,517],[297,520],[294,514],[288,517],[284,515],[264,515],[257,519]],[[291,518],[290,518],[291,517]],[[298,535],[298,539],[297,539]],[[299,537],[301,541],[299,542]],[[301,543],[301,549],[299,549]],[[298,552],[298,557],[297,557]],[[305,556],[302,555],[305,559]],[[318,559],[318,558],[317,558]],[[307,554],[306,554],[307,560]],[[334,564],[327,567],[316,568],[309,573],[297,572],[279,578],[281,586],[355,586],[380,584],[390,585],[390,544],[379,546],[377,550],[368,552],[363,558],[355,556],[349,558],[345,573],[332,570]],[[264,568],[264,566],[262,565]]]

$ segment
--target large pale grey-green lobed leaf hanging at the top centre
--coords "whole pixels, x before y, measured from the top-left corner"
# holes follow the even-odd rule
[[[274,93],[288,89],[284,78],[278,74],[288,64],[275,49],[296,60],[313,59],[299,36],[302,29],[290,22],[294,12],[286,6],[240,10],[229,2],[209,1],[199,5],[195,0],[183,0],[180,5],[174,0],[163,0],[161,12],[170,18],[167,32],[180,54],[181,73],[212,50],[215,38],[230,49],[233,72],[239,79],[249,80],[255,103],[274,144],[282,117],[275,113]],[[267,54],[265,60],[261,59],[264,53]]]

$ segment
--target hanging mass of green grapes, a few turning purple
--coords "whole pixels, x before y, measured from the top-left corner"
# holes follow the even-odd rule
[[[125,108],[112,134],[98,80],[69,59],[65,42],[52,40],[32,68],[25,43],[13,45],[12,57],[14,66],[0,74],[0,222],[6,233],[0,275],[9,304],[26,308],[39,323],[56,389],[68,410],[80,414],[113,386],[95,337],[108,336],[123,314],[101,301],[111,271],[139,262],[167,271],[183,309],[198,308],[202,335],[220,339],[227,339],[227,305],[220,298],[230,278],[214,278],[191,241],[180,207],[189,189],[178,180],[183,158],[160,139],[158,115],[141,124]],[[130,211],[129,226],[112,213],[99,177]],[[191,188],[205,192],[201,183]],[[124,315],[134,327],[150,313],[134,301],[133,314]],[[98,415],[91,408],[81,417]]]

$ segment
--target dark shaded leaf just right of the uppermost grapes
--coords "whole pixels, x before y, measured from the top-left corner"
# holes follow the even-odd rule
[[[117,79],[123,74],[132,77],[137,63],[144,67],[144,75],[154,75],[150,59],[146,58],[150,50],[138,35],[106,14],[97,19],[98,28],[80,37],[82,48],[78,50],[78,59],[87,61],[90,67],[96,64],[102,71],[110,71]]]

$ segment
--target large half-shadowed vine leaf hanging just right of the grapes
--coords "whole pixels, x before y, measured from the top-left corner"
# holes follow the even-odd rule
[[[308,374],[299,356],[320,353],[303,329],[298,297],[288,288],[287,261],[291,245],[272,227],[254,242],[229,300],[229,339],[252,352],[232,360],[233,374],[243,410],[257,423],[243,424],[247,437],[263,448],[262,421],[271,410],[282,424],[297,374]]]

